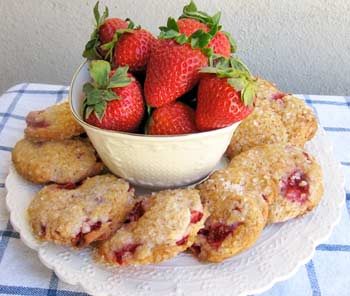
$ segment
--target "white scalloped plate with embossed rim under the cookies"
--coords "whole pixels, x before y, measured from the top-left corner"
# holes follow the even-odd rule
[[[26,208],[39,189],[10,168],[6,180],[11,223],[23,242],[57,276],[94,295],[245,295],[261,293],[292,276],[325,241],[341,217],[344,177],[322,128],[307,144],[324,172],[325,195],[303,218],[266,227],[249,250],[219,264],[203,264],[189,254],[157,265],[118,268],[93,261],[91,250],[40,243],[26,221]],[[220,287],[218,289],[218,287]]]

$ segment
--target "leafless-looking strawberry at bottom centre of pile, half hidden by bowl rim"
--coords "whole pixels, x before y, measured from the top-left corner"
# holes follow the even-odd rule
[[[197,131],[194,110],[181,102],[155,109],[147,128],[149,135],[181,135]]]

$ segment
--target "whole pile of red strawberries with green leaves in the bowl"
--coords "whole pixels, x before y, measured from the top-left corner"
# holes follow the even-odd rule
[[[130,19],[102,15],[83,56],[91,60],[84,85],[84,119],[102,129],[174,135],[208,131],[242,120],[253,110],[255,81],[231,56],[236,45],[191,3],[169,18],[155,38]]]

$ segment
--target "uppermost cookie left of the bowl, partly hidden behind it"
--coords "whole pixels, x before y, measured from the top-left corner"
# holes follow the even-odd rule
[[[26,122],[25,137],[35,142],[70,139],[84,133],[74,119],[68,102],[32,111],[27,115]]]

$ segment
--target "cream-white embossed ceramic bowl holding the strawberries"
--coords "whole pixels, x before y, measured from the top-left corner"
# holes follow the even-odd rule
[[[195,134],[148,136],[103,130],[82,119],[83,85],[90,81],[89,62],[75,73],[69,102],[105,165],[135,185],[153,188],[184,186],[205,178],[223,156],[239,123]]]

